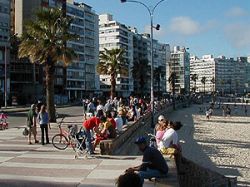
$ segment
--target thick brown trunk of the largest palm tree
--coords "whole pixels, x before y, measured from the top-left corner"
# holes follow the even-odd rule
[[[49,113],[50,122],[56,122],[55,115],[55,102],[54,102],[54,77],[55,77],[55,64],[51,58],[48,57],[45,65],[46,73],[46,103]]]

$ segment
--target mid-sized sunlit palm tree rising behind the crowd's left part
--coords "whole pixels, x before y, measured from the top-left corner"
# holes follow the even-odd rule
[[[115,48],[108,50],[104,48],[104,51],[100,52],[99,63],[96,70],[100,75],[110,75],[111,82],[111,98],[115,96],[116,78],[118,74],[127,76],[128,74],[128,62],[124,58],[125,50],[122,48]]]

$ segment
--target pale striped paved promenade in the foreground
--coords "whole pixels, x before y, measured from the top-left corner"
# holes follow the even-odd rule
[[[115,186],[125,169],[141,163],[140,156],[74,159],[71,148],[59,151],[52,144],[28,145],[22,130],[0,131],[0,186]],[[50,138],[57,132],[53,125]],[[147,181],[144,186],[153,183]]]

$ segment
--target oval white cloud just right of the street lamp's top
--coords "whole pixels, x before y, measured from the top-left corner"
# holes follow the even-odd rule
[[[189,17],[176,17],[170,22],[170,31],[181,35],[194,35],[201,31],[201,25]]]

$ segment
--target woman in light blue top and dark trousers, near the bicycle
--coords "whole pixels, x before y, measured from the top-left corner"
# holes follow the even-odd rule
[[[37,120],[38,120],[40,128],[41,128],[41,143],[42,143],[42,145],[45,144],[44,143],[44,132],[45,132],[46,144],[49,144],[48,127],[50,129],[51,129],[51,127],[50,127],[50,123],[49,123],[49,114],[46,111],[46,106],[45,105],[41,106],[41,110],[38,113]]]

